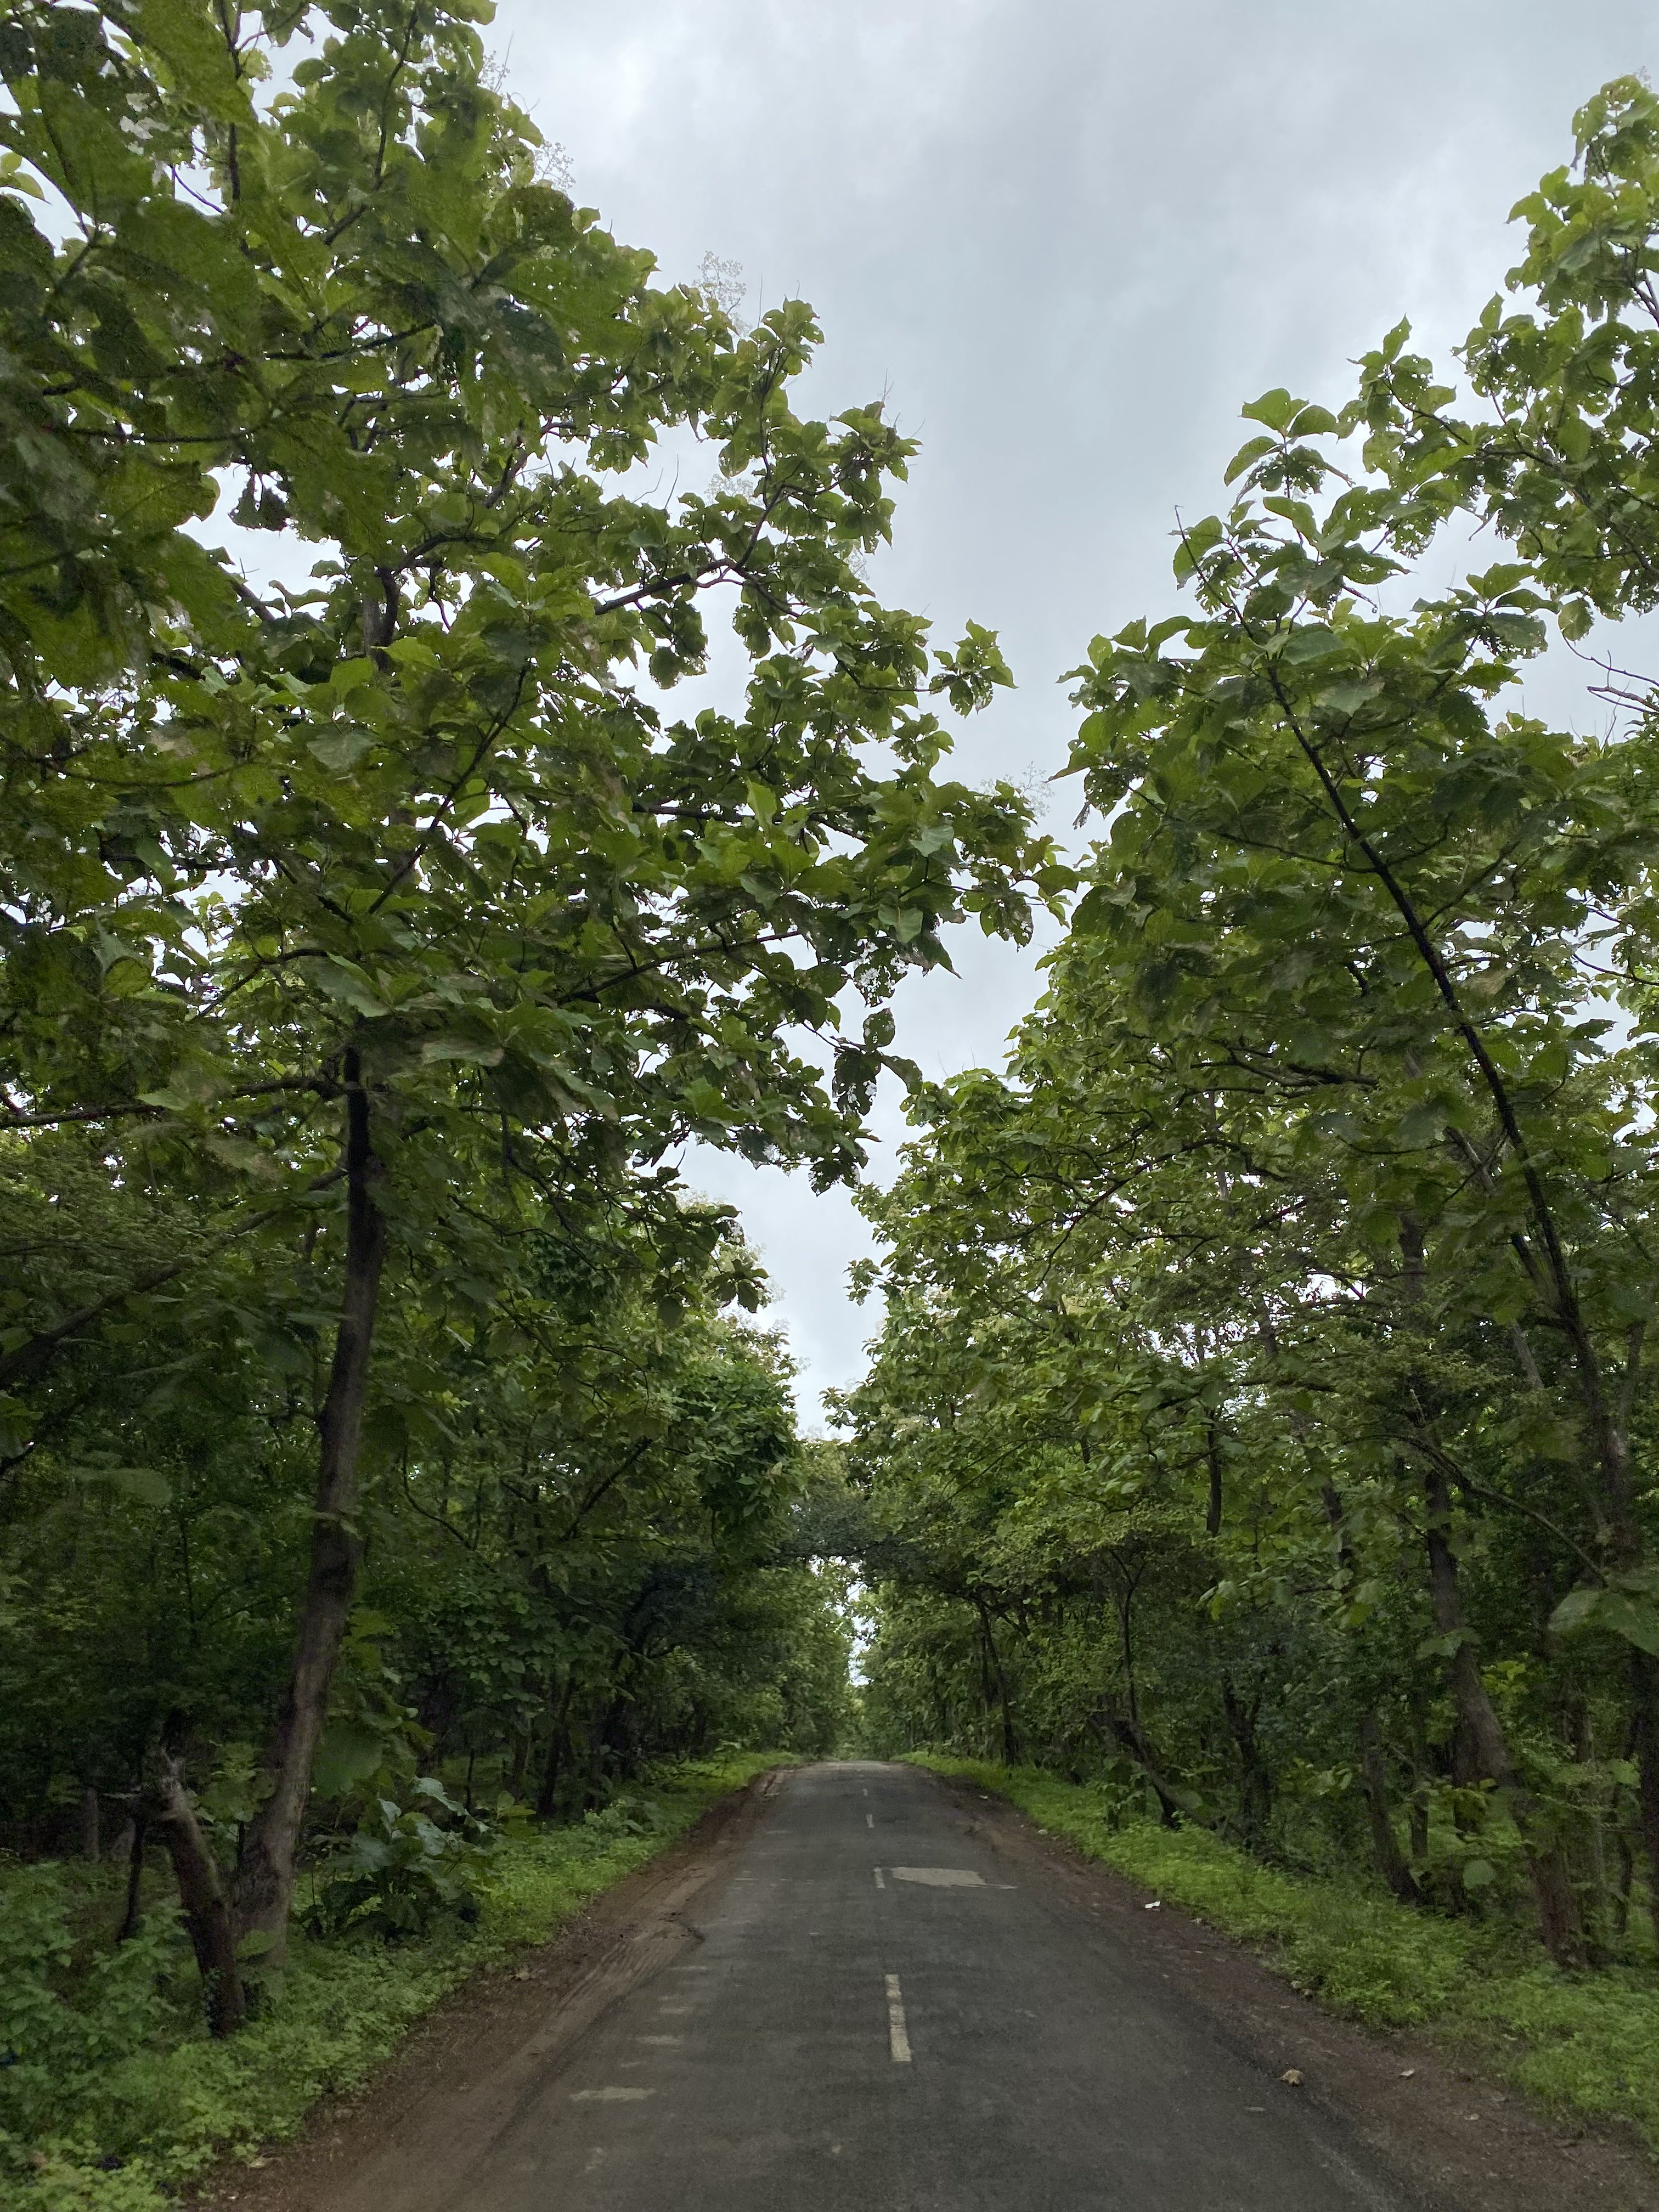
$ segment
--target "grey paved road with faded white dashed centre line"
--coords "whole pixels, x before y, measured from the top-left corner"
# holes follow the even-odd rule
[[[456,2212],[1400,2212],[911,1767],[787,1774]]]

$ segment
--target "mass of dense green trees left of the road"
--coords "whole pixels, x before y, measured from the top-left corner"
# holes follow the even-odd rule
[[[909,445],[575,206],[482,20],[0,15],[0,1818],[119,1832],[128,1931],[164,1843],[221,2033],[303,1869],[396,1933],[498,1792],[834,1741],[675,1155],[852,1177],[898,980],[1066,883],[938,774],[995,637],[863,580]]]

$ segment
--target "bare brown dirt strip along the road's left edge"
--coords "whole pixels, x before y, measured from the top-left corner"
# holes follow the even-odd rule
[[[553,1942],[473,1975],[380,2077],[312,2115],[257,2166],[226,2161],[192,2203],[237,2212],[383,2212],[451,2201],[526,2095],[624,1991],[701,1942],[686,1907],[743,1847],[776,1774],[712,1805],[657,1858],[597,1896]]]

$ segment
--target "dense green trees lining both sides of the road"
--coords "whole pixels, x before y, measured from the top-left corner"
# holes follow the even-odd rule
[[[872,1747],[1624,2006],[1659,695],[1586,641],[1659,606],[1659,102],[1522,204],[1464,400],[1400,325],[1245,409],[1190,611],[1075,670],[1046,993],[927,1086],[898,982],[1077,887],[940,772],[995,637],[880,604],[909,442],[573,204],[484,15],[0,11],[0,2157],[77,2190],[111,2066],[195,2028],[188,2104],[290,1964],[436,1942],[431,2002],[504,1865],[628,1860],[538,1818],[834,1750],[852,1597]],[[1571,653],[1564,732],[1511,701]],[[677,1161],[852,1181],[883,1071],[885,1325],[803,1449]]]

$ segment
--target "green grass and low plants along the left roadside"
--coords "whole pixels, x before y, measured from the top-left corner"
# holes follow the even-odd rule
[[[157,1918],[155,1960],[126,1947],[95,1969],[113,1969],[128,1984],[104,1989],[97,2020],[106,2026],[86,2033],[73,2022],[40,1971],[29,1973],[27,1891],[38,1869],[20,1869],[0,1885],[0,2042],[13,2055],[42,2048],[55,2064],[49,2057],[35,2068],[33,2084],[15,2057],[0,2066],[0,2205],[159,2212],[217,2159],[252,2157],[296,2135],[321,2097],[361,2088],[451,1989],[546,1942],[717,1798],[783,1761],[787,1754],[748,1752],[681,1765],[577,1827],[511,1836],[491,1860],[471,1931],[451,1924],[398,1944],[296,1936],[281,2002],[221,2044],[201,2033],[195,2004],[168,2006],[155,1995],[161,1947],[177,1951],[166,1916]],[[7,1953],[11,1889],[18,1940]]]

